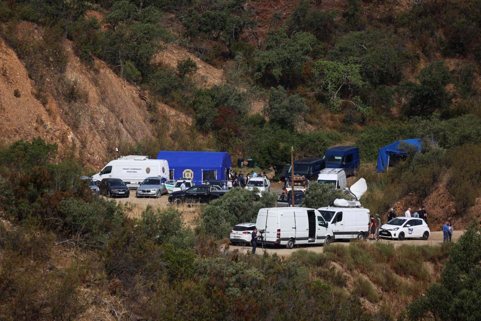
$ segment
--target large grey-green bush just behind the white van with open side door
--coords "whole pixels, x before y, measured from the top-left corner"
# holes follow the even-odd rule
[[[260,209],[274,207],[277,196],[263,192],[259,201],[256,193],[234,188],[205,207],[202,214],[202,230],[216,238],[228,236],[229,230],[239,222],[255,222]]]

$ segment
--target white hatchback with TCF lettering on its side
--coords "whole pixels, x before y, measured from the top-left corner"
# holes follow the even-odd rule
[[[427,240],[431,230],[422,219],[412,217],[396,217],[379,229],[379,236],[388,239],[422,238]]]

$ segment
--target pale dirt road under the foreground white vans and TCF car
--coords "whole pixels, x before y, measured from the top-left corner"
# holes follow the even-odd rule
[[[452,235],[452,241],[455,242],[457,239],[464,233],[464,231],[454,231]],[[376,241],[366,241],[369,243],[376,243]],[[427,241],[423,241],[420,239],[414,239],[414,240],[409,240],[406,239],[404,241],[398,241],[398,240],[381,240],[379,242],[386,243],[386,244],[393,244],[394,246],[401,246],[401,245],[440,245],[442,244],[442,232],[431,232],[431,235]],[[330,246],[345,246],[349,245],[349,241],[337,241],[332,243]],[[294,251],[298,249],[305,249],[308,251],[313,251],[315,253],[322,253],[323,252],[323,246],[319,245],[299,245],[298,247],[288,250],[285,247],[268,247],[264,249],[267,253],[269,254],[274,254],[276,253],[279,256],[290,256]],[[241,252],[249,252],[252,250],[252,247],[250,246],[236,246],[236,245],[231,245],[230,250],[239,250]],[[262,253],[263,249],[258,246],[256,253]]]

